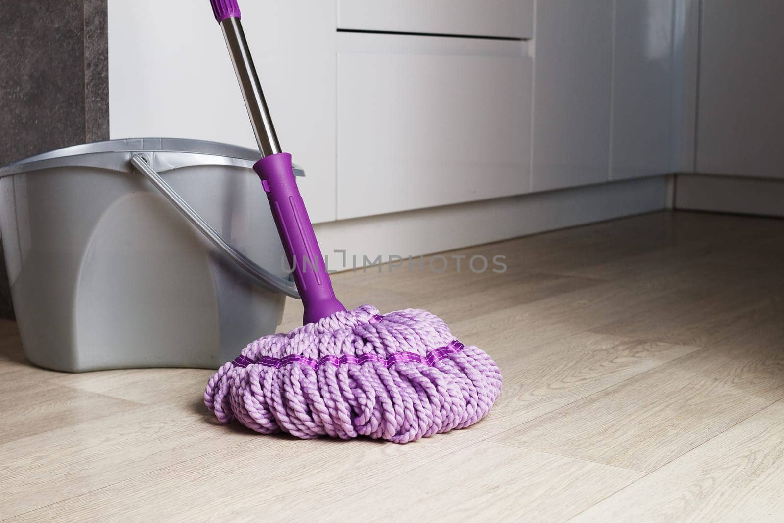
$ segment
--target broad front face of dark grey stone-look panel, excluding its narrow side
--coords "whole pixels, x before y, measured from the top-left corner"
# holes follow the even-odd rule
[[[0,0],[0,164],[84,141],[82,0]]]

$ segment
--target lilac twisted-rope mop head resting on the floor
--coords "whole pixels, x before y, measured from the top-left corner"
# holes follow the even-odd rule
[[[406,443],[477,423],[500,393],[495,361],[441,318],[365,305],[254,341],[204,398],[221,423],[261,434]]]

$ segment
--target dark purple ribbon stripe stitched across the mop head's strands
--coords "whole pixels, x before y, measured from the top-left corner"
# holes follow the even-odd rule
[[[262,356],[259,358],[259,361],[253,361],[252,359],[245,356],[239,356],[231,363],[237,367],[242,367],[243,369],[245,369],[245,367],[248,365],[253,365],[256,363],[259,365],[265,365],[267,367],[274,367],[275,369],[279,369],[283,365],[301,363],[303,365],[309,366],[314,370],[318,370],[321,365],[326,365],[328,363],[339,367],[345,363],[355,363],[357,365],[362,365],[368,361],[376,361],[381,363],[382,365],[385,365],[387,369],[389,369],[395,363],[408,363],[412,361],[415,363],[426,363],[427,365],[433,367],[438,361],[447,358],[450,354],[456,354],[460,350],[463,350],[463,347],[465,347],[463,343],[460,343],[458,340],[452,340],[447,346],[430,350],[430,352],[428,352],[425,356],[420,356],[419,354],[413,352],[406,352],[405,350],[390,354],[387,356],[387,358],[379,356],[378,354],[360,354],[359,356],[354,356],[354,354],[343,354],[343,356],[328,354],[317,360],[314,358],[307,358],[307,356],[302,356],[300,354],[289,354],[283,358]]]

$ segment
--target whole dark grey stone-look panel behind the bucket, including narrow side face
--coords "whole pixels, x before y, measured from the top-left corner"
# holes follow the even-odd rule
[[[107,140],[108,62],[107,0],[0,0],[0,165]]]

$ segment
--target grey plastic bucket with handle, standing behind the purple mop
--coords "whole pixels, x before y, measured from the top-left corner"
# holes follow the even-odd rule
[[[252,170],[258,158],[225,143],[144,138],[0,169],[26,357],[69,372],[214,369],[274,332],[296,290]]]

